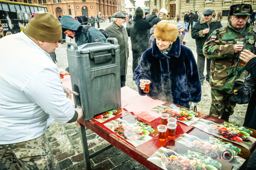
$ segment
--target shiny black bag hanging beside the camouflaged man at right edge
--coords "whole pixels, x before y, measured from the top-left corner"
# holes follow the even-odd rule
[[[254,91],[255,80],[246,70],[235,81],[234,91],[230,98],[231,101],[238,104],[249,103]]]

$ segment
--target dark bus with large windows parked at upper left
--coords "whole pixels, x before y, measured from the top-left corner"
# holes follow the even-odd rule
[[[5,36],[7,32],[16,34],[24,30],[35,12],[48,12],[48,9],[43,5],[0,0],[0,23],[4,29],[3,35]]]

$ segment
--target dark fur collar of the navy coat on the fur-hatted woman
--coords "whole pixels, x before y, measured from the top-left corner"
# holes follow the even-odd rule
[[[167,54],[168,57],[176,57],[178,58],[180,55],[180,39],[179,37],[173,42],[172,47]],[[156,58],[164,57],[164,55],[160,52],[159,48],[156,46],[156,39],[154,39],[153,46],[152,46],[152,55]]]

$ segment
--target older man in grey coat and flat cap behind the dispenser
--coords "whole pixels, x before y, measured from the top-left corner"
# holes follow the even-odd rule
[[[121,87],[124,87],[127,72],[127,60],[129,57],[128,34],[123,26],[125,15],[117,12],[114,14],[114,19],[114,22],[106,28],[106,31],[110,32],[117,39],[120,46]]]

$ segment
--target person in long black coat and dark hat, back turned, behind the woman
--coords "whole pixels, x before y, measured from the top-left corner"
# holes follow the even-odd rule
[[[131,37],[132,73],[139,65],[141,54],[148,49],[148,29],[152,25],[144,17],[143,10],[138,7],[135,9],[135,19],[126,26],[128,36]]]

